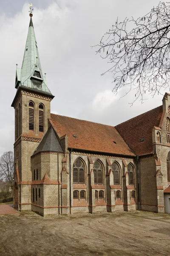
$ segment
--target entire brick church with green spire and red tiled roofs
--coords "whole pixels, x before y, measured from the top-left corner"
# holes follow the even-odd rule
[[[15,88],[16,209],[170,213],[169,93],[161,106],[116,127],[52,114],[32,13]]]

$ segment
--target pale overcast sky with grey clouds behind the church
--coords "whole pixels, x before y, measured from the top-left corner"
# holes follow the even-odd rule
[[[120,99],[112,93],[106,61],[96,55],[102,35],[116,18],[142,17],[156,0],[34,0],[33,23],[42,72],[55,98],[51,113],[117,125],[161,105],[162,96],[144,104],[133,101],[133,92]],[[29,25],[24,0],[0,0],[0,155],[13,150],[16,64],[20,68]]]

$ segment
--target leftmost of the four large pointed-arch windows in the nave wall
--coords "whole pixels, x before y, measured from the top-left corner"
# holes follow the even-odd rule
[[[73,183],[85,183],[85,165],[79,158],[73,165]]]

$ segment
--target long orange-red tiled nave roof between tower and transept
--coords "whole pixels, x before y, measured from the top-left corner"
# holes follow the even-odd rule
[[[134,156],[113,126],[52,113],[51,121],[60,137],[67,134],[69,148]]]

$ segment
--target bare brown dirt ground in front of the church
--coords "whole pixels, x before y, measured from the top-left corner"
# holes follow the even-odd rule
[[[0,215],[0,256],[170,255],[170,215]]]

